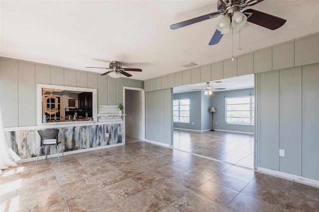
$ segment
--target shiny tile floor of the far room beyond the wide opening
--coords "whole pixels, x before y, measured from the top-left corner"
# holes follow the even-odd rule
[[[254,167],[254,135],[252,134],[174,129],[173,139],[175,149],[239,166]]]

